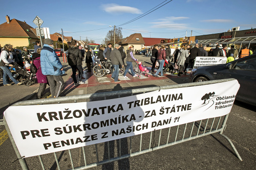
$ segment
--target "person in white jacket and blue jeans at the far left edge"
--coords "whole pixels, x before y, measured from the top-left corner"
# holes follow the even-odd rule
[[[17,85],[22,84],[22,82],[18,82],[14,77],[12,76],[11,71],[9,70],[8,66],[12,67],[13,57],[10,51],[12,50],[11,44],[5,44],[4,48],[0,55],[0,67],[3,69],[3,84],[4,86],[10,86],[11,84],[8,83],[6,77],[7,75],[9,78]]]

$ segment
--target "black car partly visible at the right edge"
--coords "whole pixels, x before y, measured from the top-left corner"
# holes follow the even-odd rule
[[[226,64],[194,68],[189,75],[190,82],[227,78],[237,79],[240,84],[236,100],[256,106],[256,54]]]

